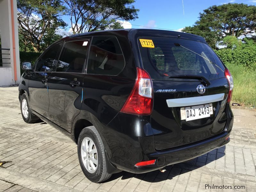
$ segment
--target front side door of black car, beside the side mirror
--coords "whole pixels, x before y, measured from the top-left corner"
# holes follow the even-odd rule
[[[48,79],[56,62],[61,43],[48,48],[36,61],[35,69],[29,80],[29,105],[40,115],[49,119],[49,95],[47,91]]]

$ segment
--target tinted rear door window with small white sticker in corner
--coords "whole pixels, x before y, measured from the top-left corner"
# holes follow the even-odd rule
[[[88,40],[66,42],[60,54],[56,71],[81,73],[87,49]]]

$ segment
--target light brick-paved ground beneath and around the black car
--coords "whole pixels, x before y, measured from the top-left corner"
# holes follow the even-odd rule
[[[20,114],[18,87],[0,87],[0,161],[9,161],[0,167],[0,192],[256,191],[256,113],[233,112],[235,123],[227,146],[168,166],[164,173],[121,172],[95,184],[82,173],[73,141],[44,122],[26,124]],[[205,184],[245,189],[205,189]]]

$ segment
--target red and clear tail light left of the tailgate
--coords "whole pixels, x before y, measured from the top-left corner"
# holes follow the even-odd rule
[[[133,115],[150,115],[153,104],[152,90],[152,80],[148,72],[137,67],[136,82],[120,112]]]

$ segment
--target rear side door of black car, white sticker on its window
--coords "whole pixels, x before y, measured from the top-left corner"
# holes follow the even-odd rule
[[[71,132],[83,98],[83,79],[89,39],[65,42],[49,78],[48,110],[52,122]]]

